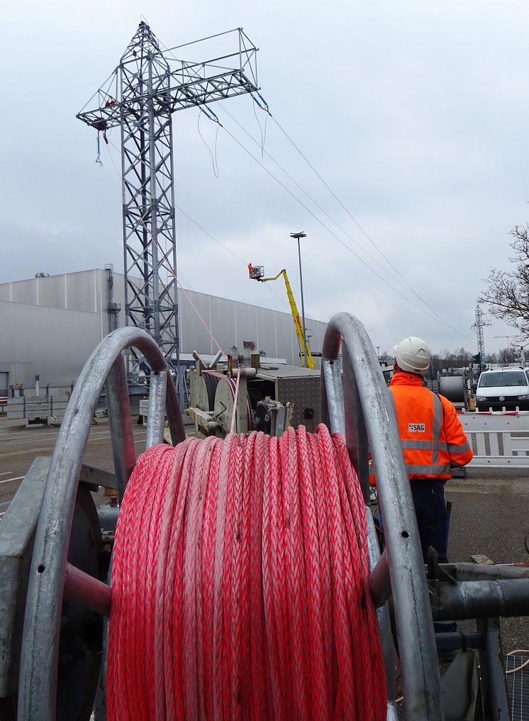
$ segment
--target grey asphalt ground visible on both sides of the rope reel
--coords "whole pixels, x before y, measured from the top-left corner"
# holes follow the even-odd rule
[[[22,428],[0,420],[0,518],[36,456],[50,456],[58,428]],[[145,444],[146,429],[133,423],[136,452]],[[89,435],[86,464],[113,471],[106,418],[97,419]],[[483,554],[495,563],[528,562],[524,537],[529,533],[529,469],[468,469],[466,479],[445,487],[453,503],[450,521],[451,562],[467,562]],[[529,609],[528,609],[529,614]],[[463,626],[468,626],[465,622]],[[529,617],[502,620],[504,652],[529,647]]]

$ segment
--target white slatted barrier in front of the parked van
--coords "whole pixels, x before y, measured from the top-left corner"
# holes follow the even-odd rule
[[[474,453],[469,467],[529,468],[529,412],[458,415]]]

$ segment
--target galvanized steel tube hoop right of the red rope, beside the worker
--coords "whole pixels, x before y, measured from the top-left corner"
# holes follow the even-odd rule
[[[337,365],[341,345],[343,385],[339,372],[331,367]],[[341,313],[329,321],[321,374],[324,420],[331,430],[343,432],[344,429],[350,458],[366,500],[369,453],[376,465],[406,718],[410,721],[442,721],[432,612],[395,407],[375,349],[363,324],[354,316]],[[390,704],[388,717],[393,711]]]

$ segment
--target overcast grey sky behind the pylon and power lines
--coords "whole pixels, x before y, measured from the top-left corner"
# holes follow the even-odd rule
[[[142,13],[169,47],[244,27],[259,47],[259,84],[279,123],[268,120],[265,151],[332,220],[261,157],[265,114],[256,118],[249,97],[223,107],[257,143],[223,107],[215,112],[369,266],[222,128],[217,134],[204,116],[199,128],[199,111],[192,109],[174,115],[177,205],[241,260],[177,211],[182,285],[284,310],[279,281],[272,293],[271,283],[247,279],[245,264],[265,265],[270,275],[286,267],[299,300],[297,247],[289,234],[303,230],[308,317],[355,314],[381,351],[404,335],[421,335],[435,352],[463,345],[475,353],[476,298],[493,267],[509,267],[508,231],[529,216],[529,6],[522,1],[6,6],[0,282],[109,262],[123,272],[119,135],[112,131],[116,149],[103,149],[98,167],[96,134],[75,115],[117,65]],[[207,59],[207,50],[198,57],[196,46],[192,53],[189,59]],[[215,136],[219,177],[210,156]],[[493,319],[486,350],[507,345],[494,336],[513,333]]]

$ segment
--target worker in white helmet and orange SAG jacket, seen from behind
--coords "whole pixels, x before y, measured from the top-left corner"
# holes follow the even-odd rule
[[[394,397],[404,462],[408,471],[419,526],[422,554],[429,546],[440,563],[448,561],[448,523],[444,485],[450,468],[472,460],[466,433],[453,404],[424,386],[430,367],[430,349],[416,336],[401,340],[395,348]]]

